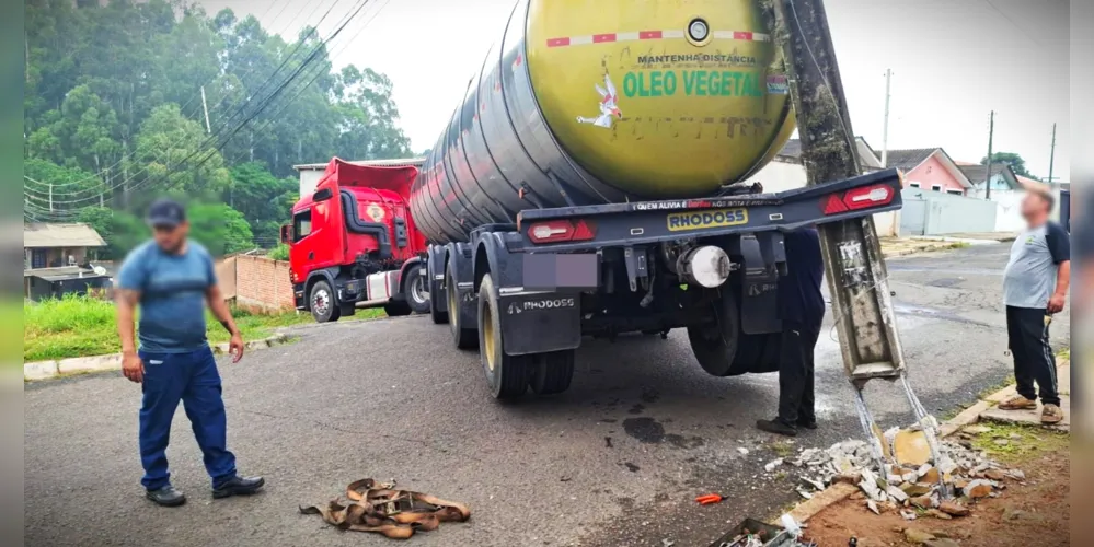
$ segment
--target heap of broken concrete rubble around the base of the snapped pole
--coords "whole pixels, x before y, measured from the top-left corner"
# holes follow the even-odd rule
[[[878,472],[871,445],[848,440],[828,449],[798,449],[796,455],[772,462],[768,473],[797,474],[798,493],[822,490],[834,482],[857,486],[855,498],[874,513],[897,511],[907,520],[917,516],[953,519],[969,514],[969,504],[995,497],[1004,479],[1023,480],[1017,469],[1006,469],[984,452],[953,441],[940,441],[940,462],[933,462],[922,431],[893,429],[884,433],[884,474]],[[919,513],[917,513],[919,512]]]

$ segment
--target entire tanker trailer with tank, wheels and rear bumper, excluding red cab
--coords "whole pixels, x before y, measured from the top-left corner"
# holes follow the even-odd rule
[[[901,206],[896,170],[744,183],[794,132],[788,90],[756,0],[517,2],[408,197],[428,313],[494,397],[561,393],[583,338],[627,333],[775,370],[783,234]]]

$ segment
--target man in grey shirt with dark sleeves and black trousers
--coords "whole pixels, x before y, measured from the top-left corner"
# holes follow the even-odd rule
[[[1036,382],[1044,405],[1043,423],[1063,420],[1048,327],[1052,315],[1063,310],[1071,279],[1070,237],[1060,224],[1049,220],[1052,206],[1052,195],[1047,191],[1030,191],[1022,201],[1028,228],[1014,240],[1003,274],[1006,334],[1018,395],[999,408],[1036,409]]]

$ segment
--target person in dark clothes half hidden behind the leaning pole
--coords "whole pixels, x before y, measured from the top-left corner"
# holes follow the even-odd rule
[[[820,283],[825,259],[820,234],[807,228],[785,234],[786,276],[779,279],[779,316],[783,322],[779,353],[779,416],[756,427],[782,435],[797,428],[817,429],[814,410],[814,349],[825,318]]]

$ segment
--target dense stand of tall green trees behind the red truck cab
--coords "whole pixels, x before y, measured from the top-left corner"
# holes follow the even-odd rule
[[[234,205],[252,236],[240,230],[233,245],[266,245],[297,199],[293,164],[410,154],[391,81],[335,70],[310,26],[283,37],[253,15],[210,16],[194,0],[24,4],[24,168],[42,182],[24,184],[27,220],[71,220],[101,205],[137,211],[165,194]],[[129,220],[147,235],[139,214],[112,225]]]

